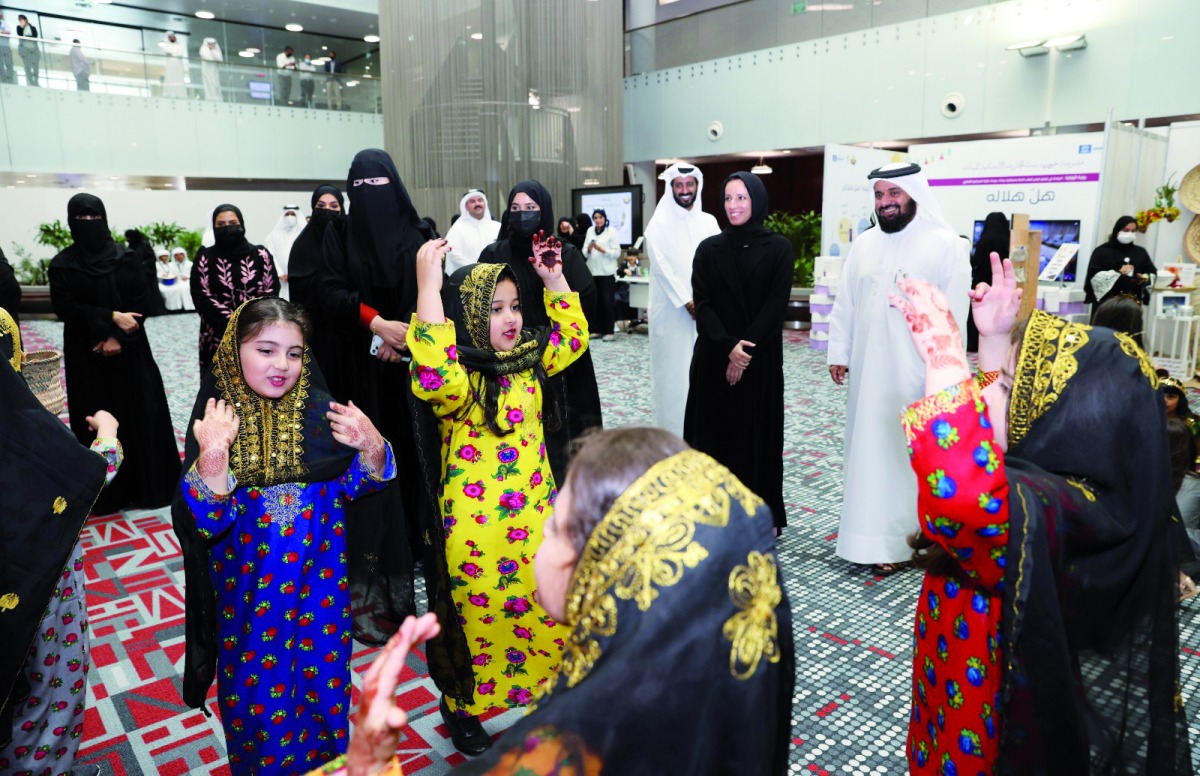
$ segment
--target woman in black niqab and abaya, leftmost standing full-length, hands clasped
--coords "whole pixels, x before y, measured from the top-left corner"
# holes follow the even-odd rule
[[[179,447],[167,393],[140,318],[150,294],[140,263],[113,241],[104,203],[76,194],[67,203],[74,243],[50,261],[50,303],[65,324],[62,361],[71,431],[83,445],[88,416],[107,409],[121,421],[125,465],[92,512],[168,504],[179,482]]]

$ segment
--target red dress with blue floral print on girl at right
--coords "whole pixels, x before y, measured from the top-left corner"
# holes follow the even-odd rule
[[[925,573],[917,604],[912,774],[990,774],[1000,746],[1000,618],[1008,539],[1008,480],[974,380],[912,404],[904,415],[917,473],[922,533],[961,575]]]

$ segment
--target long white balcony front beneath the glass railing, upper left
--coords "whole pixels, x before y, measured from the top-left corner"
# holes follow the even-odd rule
[[[366,148],[382,115],[0,86],[0,172],[346,180]]]

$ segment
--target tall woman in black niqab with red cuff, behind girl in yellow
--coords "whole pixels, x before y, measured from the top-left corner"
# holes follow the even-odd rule
[[[392,524],[408,530],[415,542],[413,518],[419,507],[432,505],[433,495],[421,498],[420,470],[412,465],[416,461],[415,399],[404,337],[416,309],[416,249],[432,235],[386,151],[359,151],[350,162],[346,191],[350,207],[344,236],[343,230],[326,229],[322,242],[317,309],[331,333],[322,344],[324,362],[318,362],[330,377],[334,398],[353,401],[395,447],[398,491],[390,488],[366,503],[395,498],[398,492],[402,506],[384,509]]]

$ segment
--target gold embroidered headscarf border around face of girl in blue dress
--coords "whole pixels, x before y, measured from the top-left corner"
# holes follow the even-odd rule
[[[238,415],[238,438],[229,449],[229,473],[244,487],[304,481],[304,420],[308,402],[308,347],[304,349],[300,379],[277,399],[256,393],[241,374],[238,353],[238,318],[244,302],[226,325],[212,359],[217,387]]]

